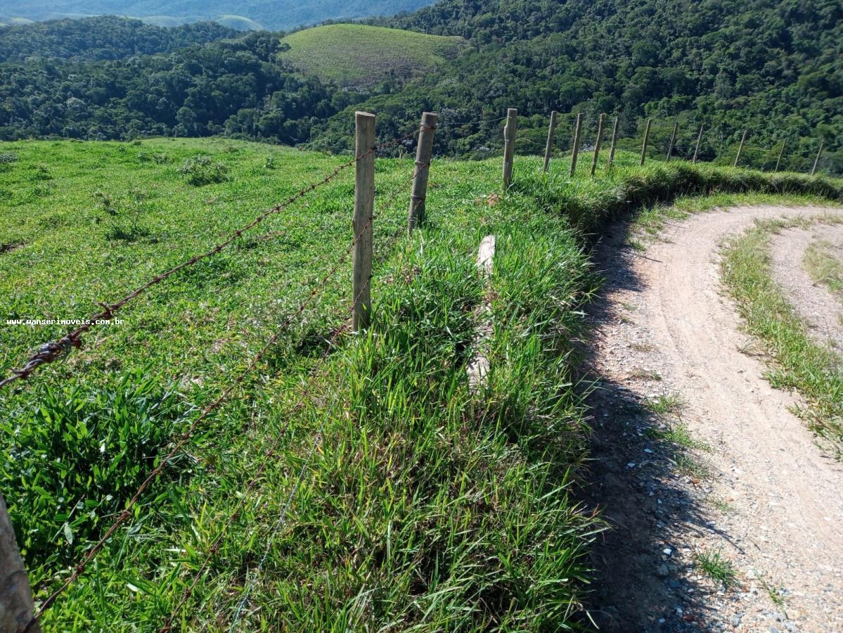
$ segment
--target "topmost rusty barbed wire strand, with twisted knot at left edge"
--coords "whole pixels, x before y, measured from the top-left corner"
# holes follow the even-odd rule
[[[91,328],[96,325],[97,321],[110,320],[114,318],[115,314],[121,308],[123,308],[126,303],[129,303],[130,301],[132,301],[132,299],[137,298],[137,296],[139,296],[143,292],[146,292],[149,288],[157,285],[160,282],[163,282],[169,276],[173,276],[175,275],[175,273],[195,265],[201,260],[207,259],[212,255],[217,255],[217,253],[221,252],[224,248],[228,247],[229,244],[232,244],[236,239],[238,239],[240,235],[242,235],[246,231],[249,231],[251,228],[254,228],[258,224],[262,223],[264,220],[266,220],[267,217],[282,212],[285,208],[292,205],[293,202],[296,202],[299,199],[303,198],[311,191],[318,189],[322,185],[328,184],[331,180],[334,180],[336,176],[339,175],[342,171],[348,169],[353,164],[356,164],[357,161],[361,158],[368,156],[370,153],[376,153],[381,149],[409,140],[414,137],[415,134],[416,132],[414,131],[411,134],[405,134],[403,137],[396,137],[389,141],[379,143],[373,148],[367,150],[366,152],[361,153],[359,156],[355,156],[346,163],[341,164],[332,172],[330,172],[330,174],[327,174],[322,180],[314,182],[311,185],[308,185],[307,187],[298,190],[296,193],[293,194],[293,196],[287,198],[286,201],[283,201],[281,204],[278,204],[275,207],[271,207],[271,209],[268,209],[266,212],[261,213],[258,217],[255,217],[255,219],[252,220],[250,223],[244,225],[241,228],[238,228],[236,231],[234,231],[234,233],[231,233],[228,239],[223,240],[223,242],[217,244],[212,249],[209,249],[204,253],[200,253],[199,255],[194,255],[193,257],[191,257],[191,259],[185,260],[178,266],[170,268],[169,271],[164,271],[163,273],[154,276],[150,281],[140,287],[137,287],[134,291],[130,292],[125,297],[119,299],[115,303],[99,302],[99,306],[103,308],[99,313],[92,315],[89,319],[86,319],[87,322],[85,324],[80,325],[76,330],[68,332],[66,335],[62,336],[62,338],[58,341],[49,341],[41,345],[38,351],[35,352],[35,354],[33,354],[24,363],[23,367],[20,367],[19,369],[13,369],[10,376],[8,376],[7,378],[3,378],[3,380],[0,380],[0,389],[3,389],[8,384],[12,384],[16,380],[29,378],[30,374],[33,373],[38,367],[49,364],[51,362],[55,362],[58,358],[62,357],[63,354],[69,352],[73,347],[81,347],[82,335],[89,332],[89,330],[91,330]]]

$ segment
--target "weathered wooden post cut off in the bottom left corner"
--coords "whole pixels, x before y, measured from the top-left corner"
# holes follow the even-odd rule
[[[6,500],[0,493],[0,630],[22,633],[32,622],[35,609],[24,559],[14,539],[8,518]],[[40,633],[38,621],[29,626],[30,633]]]

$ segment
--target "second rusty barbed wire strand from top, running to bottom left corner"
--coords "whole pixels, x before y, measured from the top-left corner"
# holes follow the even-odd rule
[[[392,142],[395,142],[395,139],[393,139]],[[384,143],[382,143],[380,146],[377,146],[376,148],[368,150],[368,152],[366,152],[366,153],[362,153],[359,158],[362,158],[362,157],[368,155],[368,153],[372,153],[373,151],[377,151],[378,147],[383,147],[383,146],[384,146]],[[357,160],[359,160],[359,158],[354,158],[350,162],[350,164],[348,164],[348,165],[350,166],[351,164],[354,164]],[[340,168],[338,168],[338,169],[340,169]],[[335,170],[335,172],[336,171],[337,170]],[[415,172],[414,172],[413,175],[415,175]],[[397,197],[399,193],[400,193],[400,189],[395,191],[395,194],[390,199],[390,203],[391,203],[391,201],[395,200],[395,197]],[[273,207],[273,208],[275,208],[275,207]],[[99,550],[101,550],[103,548],[103,546],[105,545],[105,542],[108,539],[110,539],[111,535],[115,533],[116,529],[118,527],[120,527],[121,523],[124,523],[128,518],[131,517],[132,507],[137,505],[137,502],[140,499],[140,496],[142,495],[143,491],[145,491],[148,488],[148,486],[153,482],[153,480],[157,479],[158,475],[160,475],[164,471],[164,467],[167,464],[169,464],[169,461],[175,457],[175,454],[178,453],[180,451],[180,449],[185,445],[187,440],[192,437],[193,433],[196,431],[196,428],[199,426],[199,423],[201,421],[205,420],[207,418],[207,416],[209,416],[212,413],[213,410],[216,410],[219,407],[219,405],[223,404],[223,401],[228,398],[228,395],[230,395],[234,391],[234,389],[244,381],[246,376],[249,373],[251,373],[251,371],[257,366],[257,363],[260,362],[260,360],[264,357],[266,352],[270,350],[271,346],[273,346],[273,345],[275,345],[275,343],[277,343],[277,341],[281,338],[282,334],[287,330],[287,327],[291,323],[293,323],[293,320],[298,318],[298,316],[300,316],[301,314],[303,314],[305,308],[307,308],[309,303],[314,299],[314,297],[319,293],[319,291],[322,290],[325,287],[325,284],[330,280],[331,277],[336,275],[336,272],[339,270],[339,268],[343,264],[343,262],[348,259],[348,256],[351,255],[352,249],[354,249],[354,246],[357,244],[357,241],[362,237],[362,233],[364,233],[368,229],[368,227],[372,223],[373,219],[374,219],[374,214],[373,214],[372,217],[370,217],[368,219],[368,222],[361,228],[360,232],[357,233],[357,235],[354,236],[354,239],[352,239],[352,243],[349,244],[348,247],[346,247],[345,251],[343,252],[341,257],[339,258],[339,260],[336,260],[335,264],[333,266],[331,266],[330,270],[325,274],[325,276],[323,276],[321,278],[320,282],[314,286],[314,288],[313,288],[313,290],[311,290],[311,292],[309,292],[309,295],[299,305],[298,309],[293,314],[291,314],[289,317],[287,317],[287,319],[284,321],[284,323],[282,323],[281,327],[276,331],[276,333],[274,335],[272,335],[270,337],[270,339],[266,342],[266,345],[263,346],[260,349],[260,351],[258,351],[255,354],[255,357],[252,359],[252,361],[249,363],[249,365],[244,369],[244,371],[242,373],[240,373],[237,378],[234,379],[234,382],[232,384],[230,384],[228,386],[228,388],[223,390],[223,392],[217,397],[217,400],[214,400],[210,405],[207,405],[207,407],[205,407],[205,409],[201,410],[200,415],[197,416],[196,420],[194,420],[191,423],[191,426],[187,429],[187,431],[185,431],[184,433],[182,433],[180,435],[180,437],[178,438],[178,440],[175,443],[175,446],[169,451],[169,453],[167,453],[164,456],[164,458],[161,460],[161,462],[158,464],[158,466],[156,466],[153,470],[150,471],[147,478],[145,480],[143,480],[142,484],[137,488],[137,491],[135,491],[134,495],[132,496],[132,498],[127,503],[126,508],[117,516],[117,518],[110,525],[108,530],[105,531],[105,534],[103,534],[103,536],[100,537],[100,539],[94,544],[94,546],[91,548],[91,550],[89,550],[88,554],[83,556],[82,561],[80,561],[78,563],[78,565],[76,567],[74,567],[74,570],[72,571],[72,574],[69,577],[67,577],[65,582],[63,582],[60,587],[58,587],[53,593],[51,593],[51,595],[48,598],[46,598],[46,600],[43,603],[41,603],[40,608],[36,611],[32,620],[30,620],[29,624],[24,629],[24,633],[25,633],[25,631],[30,630],[30,627],[33,624],[35,624],[35,622],[37,620],[40,619],[41,615],[43,615],[46,612],[46,609],[49,609],[51,604],[54,603],[56,601],[56,599],[64,591],[67,590],[67,587],[69,587],[72,584],[72,582],[75,582],[78,579],[78,577],[80,577],[82,575],[83,571],[89,565],[90,561],[92,561],[94,559],[94,557],[99,553]],[[369,282],[367,282],[363,286],[363,290],[368,287],[368,284],[369,284]],[[359,295],[358,295],[358,297],[359,297]],[[355,299],[355,302],[353,302],[353,303],[357,303],[357,300]],[[352,305],[353,305],[353,303],[352,303]],[[338,332],[336,332],[335,338],[336,338],[337,335],[339,335],[339,333],[341,331],[342,330],[338,330]],[[330,346],[328,347],[328,349],[330,350]],[[305,394],[306,394],[306,392],[305,392]]]

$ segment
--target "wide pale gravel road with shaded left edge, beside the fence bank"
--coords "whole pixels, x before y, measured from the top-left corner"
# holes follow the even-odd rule
[[[722,239],[754,218],[812,213],[701,213],[644,254],[621,223],[599,245],[585,502],[613,526],[593,561],[601,630],[843,631],[843,464],[789,412],[797,396],[763,378],[718,267]],[[663,438],[680,424],[693,448]],[[715,555],[735,586],[704,571]]]

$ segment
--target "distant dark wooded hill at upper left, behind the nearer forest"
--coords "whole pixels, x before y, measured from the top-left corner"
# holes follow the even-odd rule
[[[138,19],[104,15],[60,19],[0,29],[0,62],[22,62],[30,56],[58,59],[122,59],[175,51],[237,37],[238,31],[215,22],[165,29]]]

